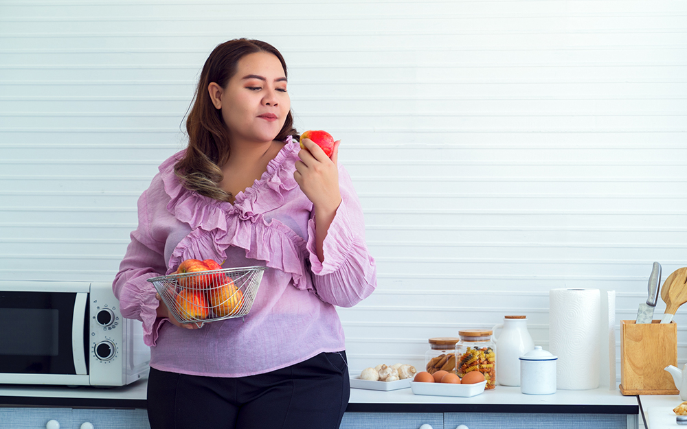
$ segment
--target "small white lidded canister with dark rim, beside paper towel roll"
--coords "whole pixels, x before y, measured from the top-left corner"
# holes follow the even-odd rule
[[[556,393],[556,360],[539,345],[520,356],[520,391],[526,395]]]

